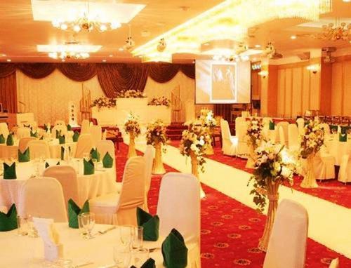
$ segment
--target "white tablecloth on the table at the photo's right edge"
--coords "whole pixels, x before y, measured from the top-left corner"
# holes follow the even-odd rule
[[[334,156],[335,165],[340,166],[341,158],[345,154],[351,154],[351,137],[347,135],[347,142],[339,142],[339,136],[337,135],[326,135],[324,144],[328,149],[329,154]]]

